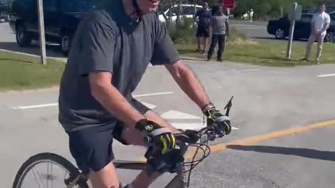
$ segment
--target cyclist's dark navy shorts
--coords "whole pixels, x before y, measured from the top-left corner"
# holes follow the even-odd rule
[[[142,114],[150,110],[135,99],[131,101],[131,104]],[[100,171],[114,159],[113,139],[128,145],[121,139],[123,127],[124,123],[117,121],[99,127],[88,127],[74,132],[67,132],[70,153],[83,173],[88,174],[91,170]]]

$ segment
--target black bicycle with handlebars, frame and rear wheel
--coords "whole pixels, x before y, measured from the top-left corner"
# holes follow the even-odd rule
[[[225,106],[225,109],[227,109],[225,112],[225,116],[229,116],[230,108],[232,107],[232,98],[233,96],[230,98],[228,104]],[[147,152],[144,155],[147,158],[147,162],[114,160],[113,164],[117,169],[147,169],[149,173],[156,171],[159,166],[163,166],[163,172],[177,173],[177,175],[172,178],[172,180],[168,183],[168,185],[165,186],[165,188],[188,187],[191,177],[191,171],[195,168],[195,166],[197,166],[206,157],[208,157],[211,152],[210,147],[208,146],[208,141],[214,141],[216,138],[224,136],[223,132],[221,132],[221,134],[215,134],[214,129],[215,125],[207,125],[207,127],[204,127],[199,131],[180,130],[182,133],[175,135],[177,142],[176,148],[174,148],[172,152],[169,152],[169,155],[157,154],[155,153],[154,148],[149,146]],[[185,135],[187,135],[188,137],[186,137]],[[192,161],[185,162],[184,155],[186,154],[189,146],[195,146],[197,149],[192,157]],[[198,154],[199,150],[202,150],[203,155],[200,159],[195,160],[195,156]],[[68,159],[52,152],[42,152],[32,157],[29,157],[29,159],[27,159],[27,161],[24,162],[22,166],[20,166],[19,171],[17,171],[17,174],[15,175],[15,180],[13,182],[13,188],[23,188],[22,182],[24,178],[26,178],[27,173],[37,164],[41,164],[44,162],[51,162],[52,164],[57,164],[68,171],[68,176],[66,173],[64,177],[61,178],[61,183],[64,184],[64,187],[89,188],[89,185],[87,185],[87,181],[89,179],[88,175],[82,173],[80,169],[77,169],[77,167],[69,162]],[[188,166],[190,166],[190,169],[188,171],[184,171]],[[52,166],[47,166],[47,171],[52,171]],[[188,178],[186,178],[187,172]],[[36,173],[34,173],[34,178],[37,181]],[[49,181],[52,182],[52,180],[55,180],[53,175],[46,175],[44,178],[46,178],[47,187],[49,185]],[[43,187],[45,187],[44,183],[42,185]],[[40,188],[40,182],[38,182],[38,188]]]

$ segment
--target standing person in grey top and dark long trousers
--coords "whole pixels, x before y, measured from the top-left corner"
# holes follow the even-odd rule
[[[217,60],[222,61],[222,52],[225,50],[225,38],[229,36],[228,17],[223,14],[222,6],[214,7],[214,15],[211,17],[211,46],[209,47],[207,61],[211,60],[216,44],[218,43]]]

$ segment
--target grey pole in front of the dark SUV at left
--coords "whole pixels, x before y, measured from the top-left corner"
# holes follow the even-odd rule
[[[40,61],[43,65],[47,65],[45,50],[45,32],[44,32],[44,16],[43,16],[43,0],[36,0],[38,8],[38,29],[40,33]]]

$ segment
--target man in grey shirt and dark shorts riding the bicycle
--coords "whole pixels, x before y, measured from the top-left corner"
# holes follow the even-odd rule
[[[214,107],[193,72],[179,60],[167,30],[154,14],[159,1],[113,0],[77,27],[61,78],[59,122],[69,136],[77,166],[94,188],[121,187],[113,166],[112,141],[147,146],[150,136],[162,154],[179,133],[131,93],[149,62],[165,65],[180,88],[202,109],[217,132],[229,134],[230,120]],[[161,175],[142,171],[127,187],[149,187]]]

